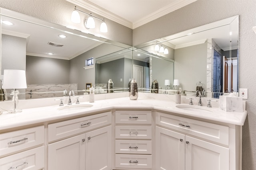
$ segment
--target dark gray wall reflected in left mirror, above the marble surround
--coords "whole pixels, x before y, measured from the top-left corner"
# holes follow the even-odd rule
[[[72,83],[69,81],[69,60],[27,56],[26,62],[27,84]]]

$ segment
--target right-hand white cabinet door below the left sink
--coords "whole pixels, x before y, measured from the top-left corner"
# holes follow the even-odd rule
[[[111,126],[86,133],[86,170],[110,170]]]

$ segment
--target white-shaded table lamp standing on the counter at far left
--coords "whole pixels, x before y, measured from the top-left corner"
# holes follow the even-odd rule
[[[13,109],[8,113],[19,113],[21,109],[17,109],[18,106],[18,94],[20,93],[16,89],[27,88],[26,72],[25,70],[4,70],[3,86],[4,89],[14,89],[11,92]]]

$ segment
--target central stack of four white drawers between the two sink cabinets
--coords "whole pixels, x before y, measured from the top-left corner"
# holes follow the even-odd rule
[[[151,111],[118,110],[115,113],[115,123],[116,169],[151,169]]]

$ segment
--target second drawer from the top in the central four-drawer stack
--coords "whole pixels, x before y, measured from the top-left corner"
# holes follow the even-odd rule
[[[116,139],[151,139],[151,126],[116,126]]]

